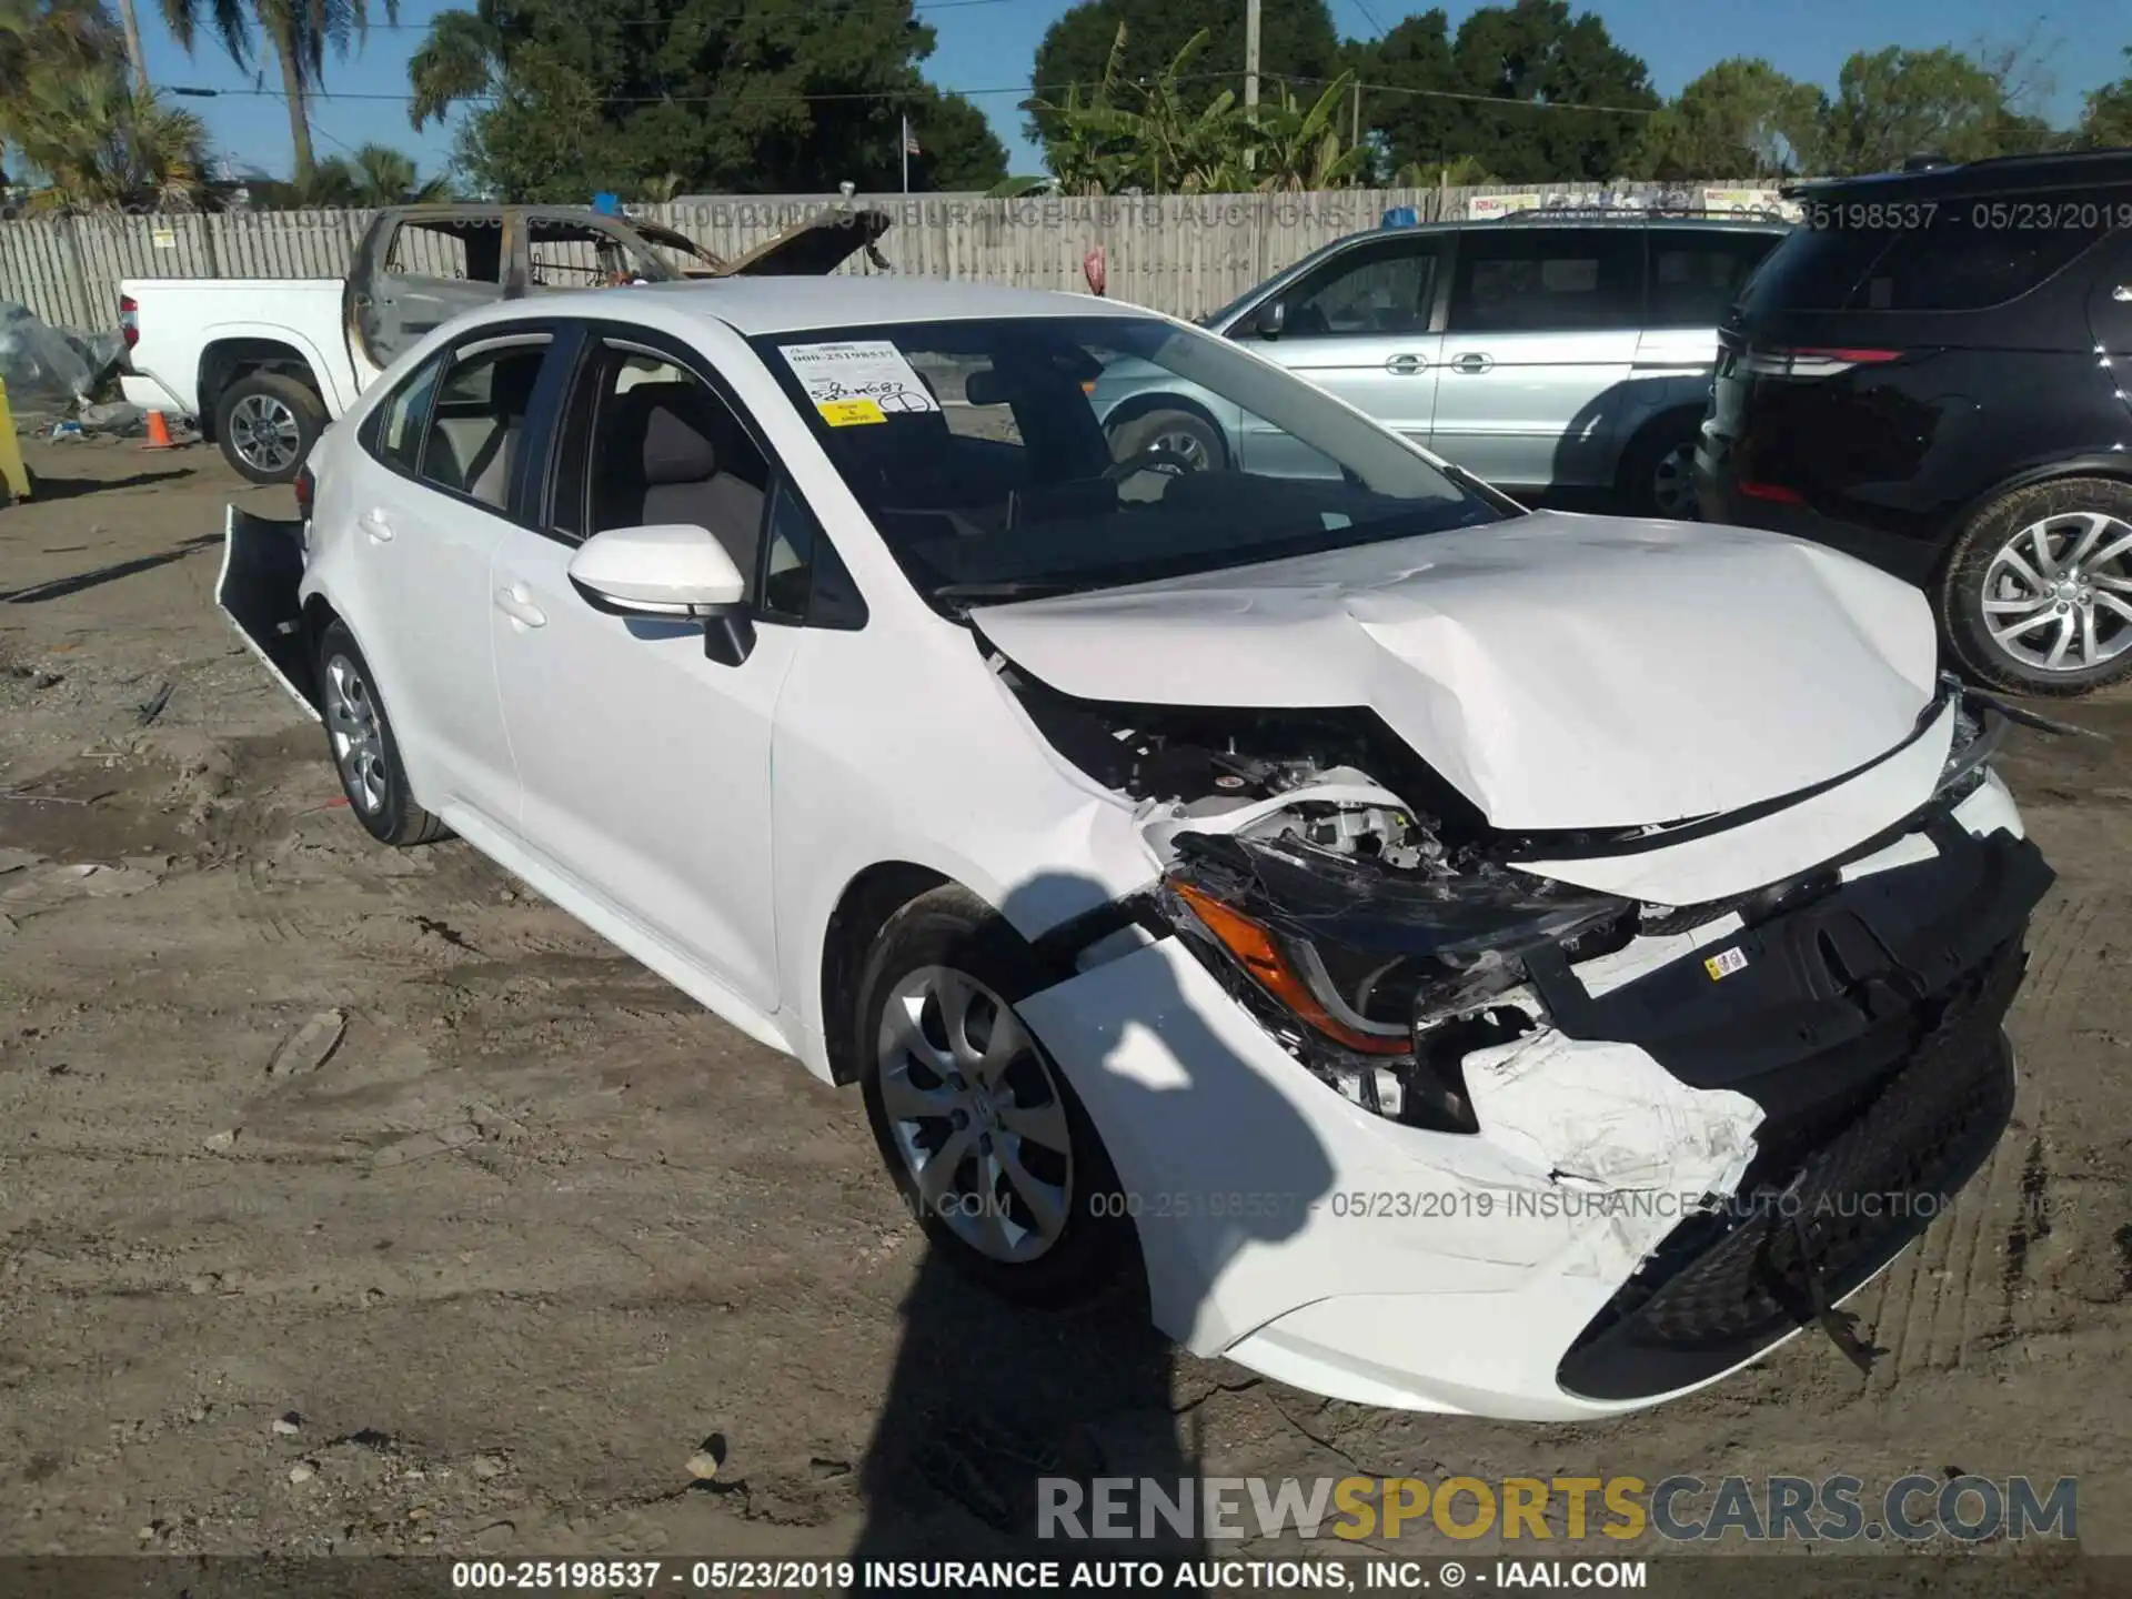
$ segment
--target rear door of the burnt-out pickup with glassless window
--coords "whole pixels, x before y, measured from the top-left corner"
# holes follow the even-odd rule
[[[350,354],[369,386],[461,311],[505,296],[503,215],[386,213],[348,279]]]

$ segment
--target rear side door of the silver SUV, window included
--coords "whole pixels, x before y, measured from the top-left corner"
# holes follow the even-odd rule
[[[1610,484],[1642,313],[1642,228],[1465,228],[1435,452],[1499,484]]]

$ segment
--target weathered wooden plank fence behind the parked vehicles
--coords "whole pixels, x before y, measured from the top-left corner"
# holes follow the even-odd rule
[[[718,256],[738,256],[840,196],[765,196],[629,207]],[[1416,220],[1497,215],[1554,205],[1778,209],[1770,185],[1554,185],[1332,190],[987,200],[972,196],[853,196],[895,226],[881,243],[900,273],[970,277],[1023,288],[1085,288],[1083,256],[1102,245],[1111,298],[1200,316],[1343,235],[1407,207]],[[341,277],[369,211],[226,211],[0,220],[0,301],[66,328],[117,320],[122,279]],[[868,271],[851,262],[846,271]]]

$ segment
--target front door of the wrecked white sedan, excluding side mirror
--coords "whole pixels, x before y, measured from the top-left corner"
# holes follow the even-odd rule
[[[569,578],[595,533],[687,524],[761,597],[785,571],[763,556],[772,463],[701,352],[584,328],[542,512],[505,533],[492,571],[516,829],[610,912],[774,1011],[770,736],[800,629],[765,618],[742,659],[712,659],[704,623],[616,616]],[[748,358],[738,339],[727,358]]]

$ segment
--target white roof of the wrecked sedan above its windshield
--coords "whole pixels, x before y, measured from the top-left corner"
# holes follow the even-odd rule
[[[539,311],[576,316],[588,309],[614,313],[629,296],[646,294],[661,309],[725,322],[736,333],[804,333],[849,328],[868,322],[964,322],[979,318],[1032,316],[1153,316],[1138,305],[1119,305],[1094,294],[1055,294],[1034,288],[1002,288],[957,277],[723,277],[693,284],[640,284],[569,294],[542,294]],[[527,313],[527,301],[512,301]]]

